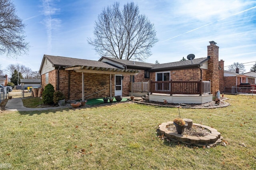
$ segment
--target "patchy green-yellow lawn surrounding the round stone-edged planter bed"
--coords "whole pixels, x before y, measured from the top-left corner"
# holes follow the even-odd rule
[[[158,138],[177,108],[130,103],[0,113],[0,163],[14,169],[256,169],[256,97],[225,95],[231,106],[180,109],[216,128],[229,144],[196,148]],[[244,145],[243,145],[244,144]],[[246,146],[246,147],[245,147]]]

